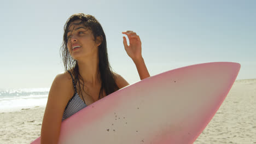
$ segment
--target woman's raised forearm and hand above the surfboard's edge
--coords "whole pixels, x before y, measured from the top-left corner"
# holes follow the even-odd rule
[[[132,31],[126,31],[123,32],[123,34],[126,34],[129,38],[130,45],[127,45],[126,38],[124,39],[124,47],[127,55],[132,59],[132,61],[135,63],[136,68],[138,70],[139,77],[141,80],[146,79],[149,77],[148,69],[146,67],[146,64],[144,62],[144,59],[142,57],[142,50],[141,50],[141,39],[139,36]]]

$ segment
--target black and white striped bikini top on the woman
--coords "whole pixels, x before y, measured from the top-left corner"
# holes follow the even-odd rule
[[[73,95],[73,97],[68,101],[68,104],[66,106],[66,109],[62,116],[62,121],[64,121],[66,118],[71,117],[78,111],[84,109],[87,105],[84,103],[84,101],[79,97],[77,93]]]

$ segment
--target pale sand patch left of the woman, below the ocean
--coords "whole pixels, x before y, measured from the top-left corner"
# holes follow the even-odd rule
[[[0,113],[0,143],[30,143],[40,135],[45,107]]]

